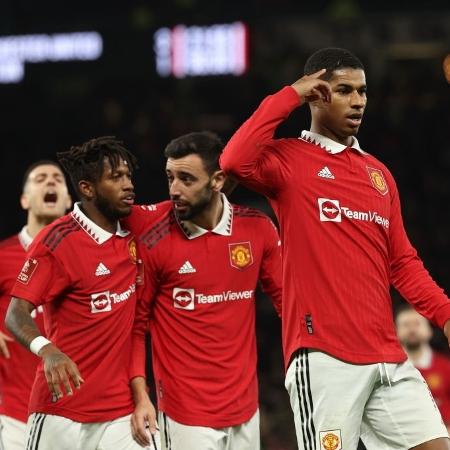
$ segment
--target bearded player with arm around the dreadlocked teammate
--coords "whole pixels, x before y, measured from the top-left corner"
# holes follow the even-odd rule
[[[142,445],[152,421],[144,346],[150,319],[162,447],[260,448],[255,289],[259,280],[280,312],[279,237],[267,216],[221,194],[222,149],[209,132],[174,139],[165,150],[173,207],[156,224],[153,214],[147,225],[142,214],[127,219],[139,232],[146,273],[131,372],[141,399],[132,424]]]

